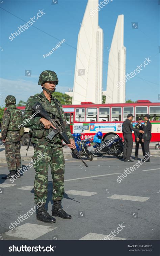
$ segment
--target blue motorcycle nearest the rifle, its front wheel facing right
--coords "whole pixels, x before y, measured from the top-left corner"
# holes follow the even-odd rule
[[[83,131],[84,130],[82,130],[81,133]],[[87,157],[88,160],[92,161],[93,156],[88,150],[88,147],[90,146],[90,139],[81,140],[81,133],[73,133],[72,134],[72,136],[74,137],[74,140],[75,140],[76,148],[81,157],[85,156],[85,157]],[[75,154],[73,154],[73,157],[77,158],[77,156]]]

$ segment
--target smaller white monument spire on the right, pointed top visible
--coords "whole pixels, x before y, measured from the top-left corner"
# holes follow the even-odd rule
[[[125,103],[124,15],[118,15],[108,60],[106,103]]]

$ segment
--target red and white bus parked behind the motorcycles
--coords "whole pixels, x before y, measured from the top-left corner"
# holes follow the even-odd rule
[[[18,107],[24,112],[25,107]],[[133,125],[137,118],[144,120],[145,114],[150,114],[152,123],[151,142],[160,141],[160,104],[152,103],[149,100],[137,100],[136,103],[117,103],[117,104],[94,104],[92,102],[81,102],[80,105],[63,105],[66,119],[70,124],[72,133],[80,133],[82,129],[82,139],[92,138],[101,131],[103,140],[110,139],[116,134],[123,137],[122,123],[128,114],[135,116]],[[28,128],[22,138],[22,144],[28,141]],[[134,132],[133,132],[134,139]]]

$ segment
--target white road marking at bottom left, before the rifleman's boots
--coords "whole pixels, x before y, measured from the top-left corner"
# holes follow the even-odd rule
[[[50,231],[53,231],[54,229],[56,229],[56,227],[25,223],[15,228],[12,231],[9,230],[3,233],[2,237],[4,238],[4,236],[13,236],[13,237],[18,237],[18,238],[23,238],[28,240],[34,240],[42,235],[45,235]]]

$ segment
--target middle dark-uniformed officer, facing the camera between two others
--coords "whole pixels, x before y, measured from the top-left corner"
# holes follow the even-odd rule
[[[143,131],[144,124],[141,123],[142,118],[139,117],[137,121],[138,121],[138,123],[135,125],[136,129]],[[141,144],[141,147],[142,147],[143,156],[145,156],[144,143],[142,142],[142,133],[134,131],[134,136],[135,136],[135,143],[136,143],[135,160],[137,160],[138,159],[139,143]]]

